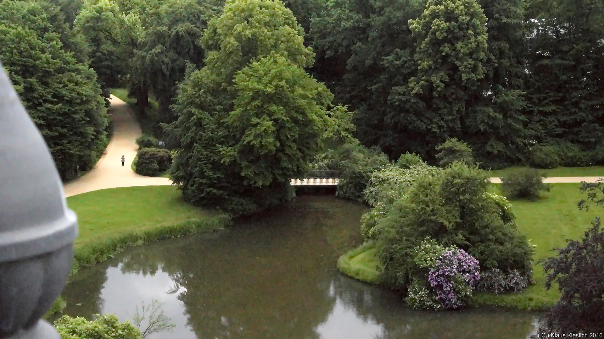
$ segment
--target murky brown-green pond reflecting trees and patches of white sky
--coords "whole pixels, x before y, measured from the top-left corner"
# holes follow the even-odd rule
[[[338,256],[361,241],[362,204],[301,195],[288,208],[228,230],[120,253],[70,278],[66,314],[131,319],[164,303],[176,328],[147,338],[526,338],[535,313],[430,312],[340,274]]]

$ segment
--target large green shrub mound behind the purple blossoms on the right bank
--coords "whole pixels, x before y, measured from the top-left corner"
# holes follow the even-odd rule
[[[426,236],[469,253],[482,270],[518,270],[532,281],[533,249],[518,233],[507,200],[487,192],[486,174],[454,162],[414,176],[403,194],[390,195],[394,202],[389,207],[377,206],[379,213],[372,211],[362,221],[371,230],[365,232],[368,237],[377,235],[383,243],[379,256],[385,284],[398,290],[411,283],[413,249]]]

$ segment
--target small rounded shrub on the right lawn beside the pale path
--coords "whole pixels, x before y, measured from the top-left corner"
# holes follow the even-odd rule
[[[544,176],[533,168],[513,171],[501,177],[501,189],[509,198],[539,200],[539,192],[550,189],[543,183]]]

